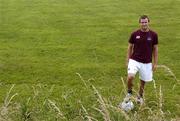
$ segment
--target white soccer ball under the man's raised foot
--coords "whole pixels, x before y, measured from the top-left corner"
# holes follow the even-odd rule
[[[131,100],[129,100],[129,101],[123,101],[122,103],[121,103],[121,108],[124,110],[124,111],[130,111],[130,110],[132,110],[133,108],[134,108],[134,104],[133,104],[133,102],[131,101]]]

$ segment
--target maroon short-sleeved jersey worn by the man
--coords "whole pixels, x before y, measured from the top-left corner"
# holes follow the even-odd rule
[[[158,44],[158,35],[152,30],[142,32],[139,29],[131,34],[129,43],[134,45],[131,59],[142,63],[151,63],[153,46]]]

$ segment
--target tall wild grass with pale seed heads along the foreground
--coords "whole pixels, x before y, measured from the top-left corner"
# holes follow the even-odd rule
[[[179,84],[178,79],[175,74],[166,66],[158,66],[159,68],[164,68],[168,71],[169,74],[173,75],[174,79]],[[69,118],[66,112],[62,110],[62,107],[59,106],[59,102],[54,101],[50,98],[50,94],[53,92],[54,85],[50,88],[50,90],[44,95],[42,104],[40,104],[38,98],[41,97],[40,91],[42,91],[42,85],[39,84],[37,86],[32,87],[34,94],[32,97],[29,97],[24,103],[18,103],[14,100],[15,97],[18,96],[17,93],[12,94],[12,90],[15,85],[12,85],[9,91],[6,94],[4,99],[4,103],[0,107],[0,121],[179,121],[180,118],[177,116],[175,118],[171,117],[171,112],[163,110],[164,101],[163,101],[163,93],[161,89],[161,85],[157,88],[156,81],[153,80],[154,91],[156,98],[151,103],[154,106],[149,106],[148,104],[139,106],[135,102],[135,109],[129,112],[124,112],[117,105],[113,105],[112,102],[108,101],[100,91],[93,85],[90,80],[84,80],[83,77],[76,73],[81,81],[83,82],[85,89],[94,95],[95,104],[90,108],[89,111],[85,104],[83,104],[82,100],[78,100],[79,105],[79,113],[76,118]],[[126,90],[125,81],[121,78],[124,90]],[[43,92],[44,93],[44,92]],[[75,104],[74,104],[75,105]]]

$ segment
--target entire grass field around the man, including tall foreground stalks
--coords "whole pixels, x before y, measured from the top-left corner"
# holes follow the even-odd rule
[[[124,113],[128,38],[142,14],[159,35],[159,68],[145,106]],[[179,121],[179,15],[179,0],[0,0],[0,120]]]

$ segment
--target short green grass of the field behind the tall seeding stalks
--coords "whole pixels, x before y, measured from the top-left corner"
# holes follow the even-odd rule
[[[151,27],[159,34],[159,64],[171,68],[179,79],[178,5],[176,0],[0,0],[0,101],[11,84],[26,101],[32,86],[41,83],[47,90],[55,84],[51,98],[62,105],[67,103],[62,95],[70,93],[72,112],[79,109],[77,100],[91,106],[91,95],[76,75],[80,73],[85,79],[94,78],[92,83],[116,105],[122,98],[120,77],[126,76],[127,40],[141,14],[150,16]],[[159,69],[155,74],[164,110],[180,116],[174,105],[179,104],[179,85],[172,90],[176,81],[166,73]],[[146,88],[149,101],[152,89],[151,83]],[[76,117],[63,109],[67,117]]]

